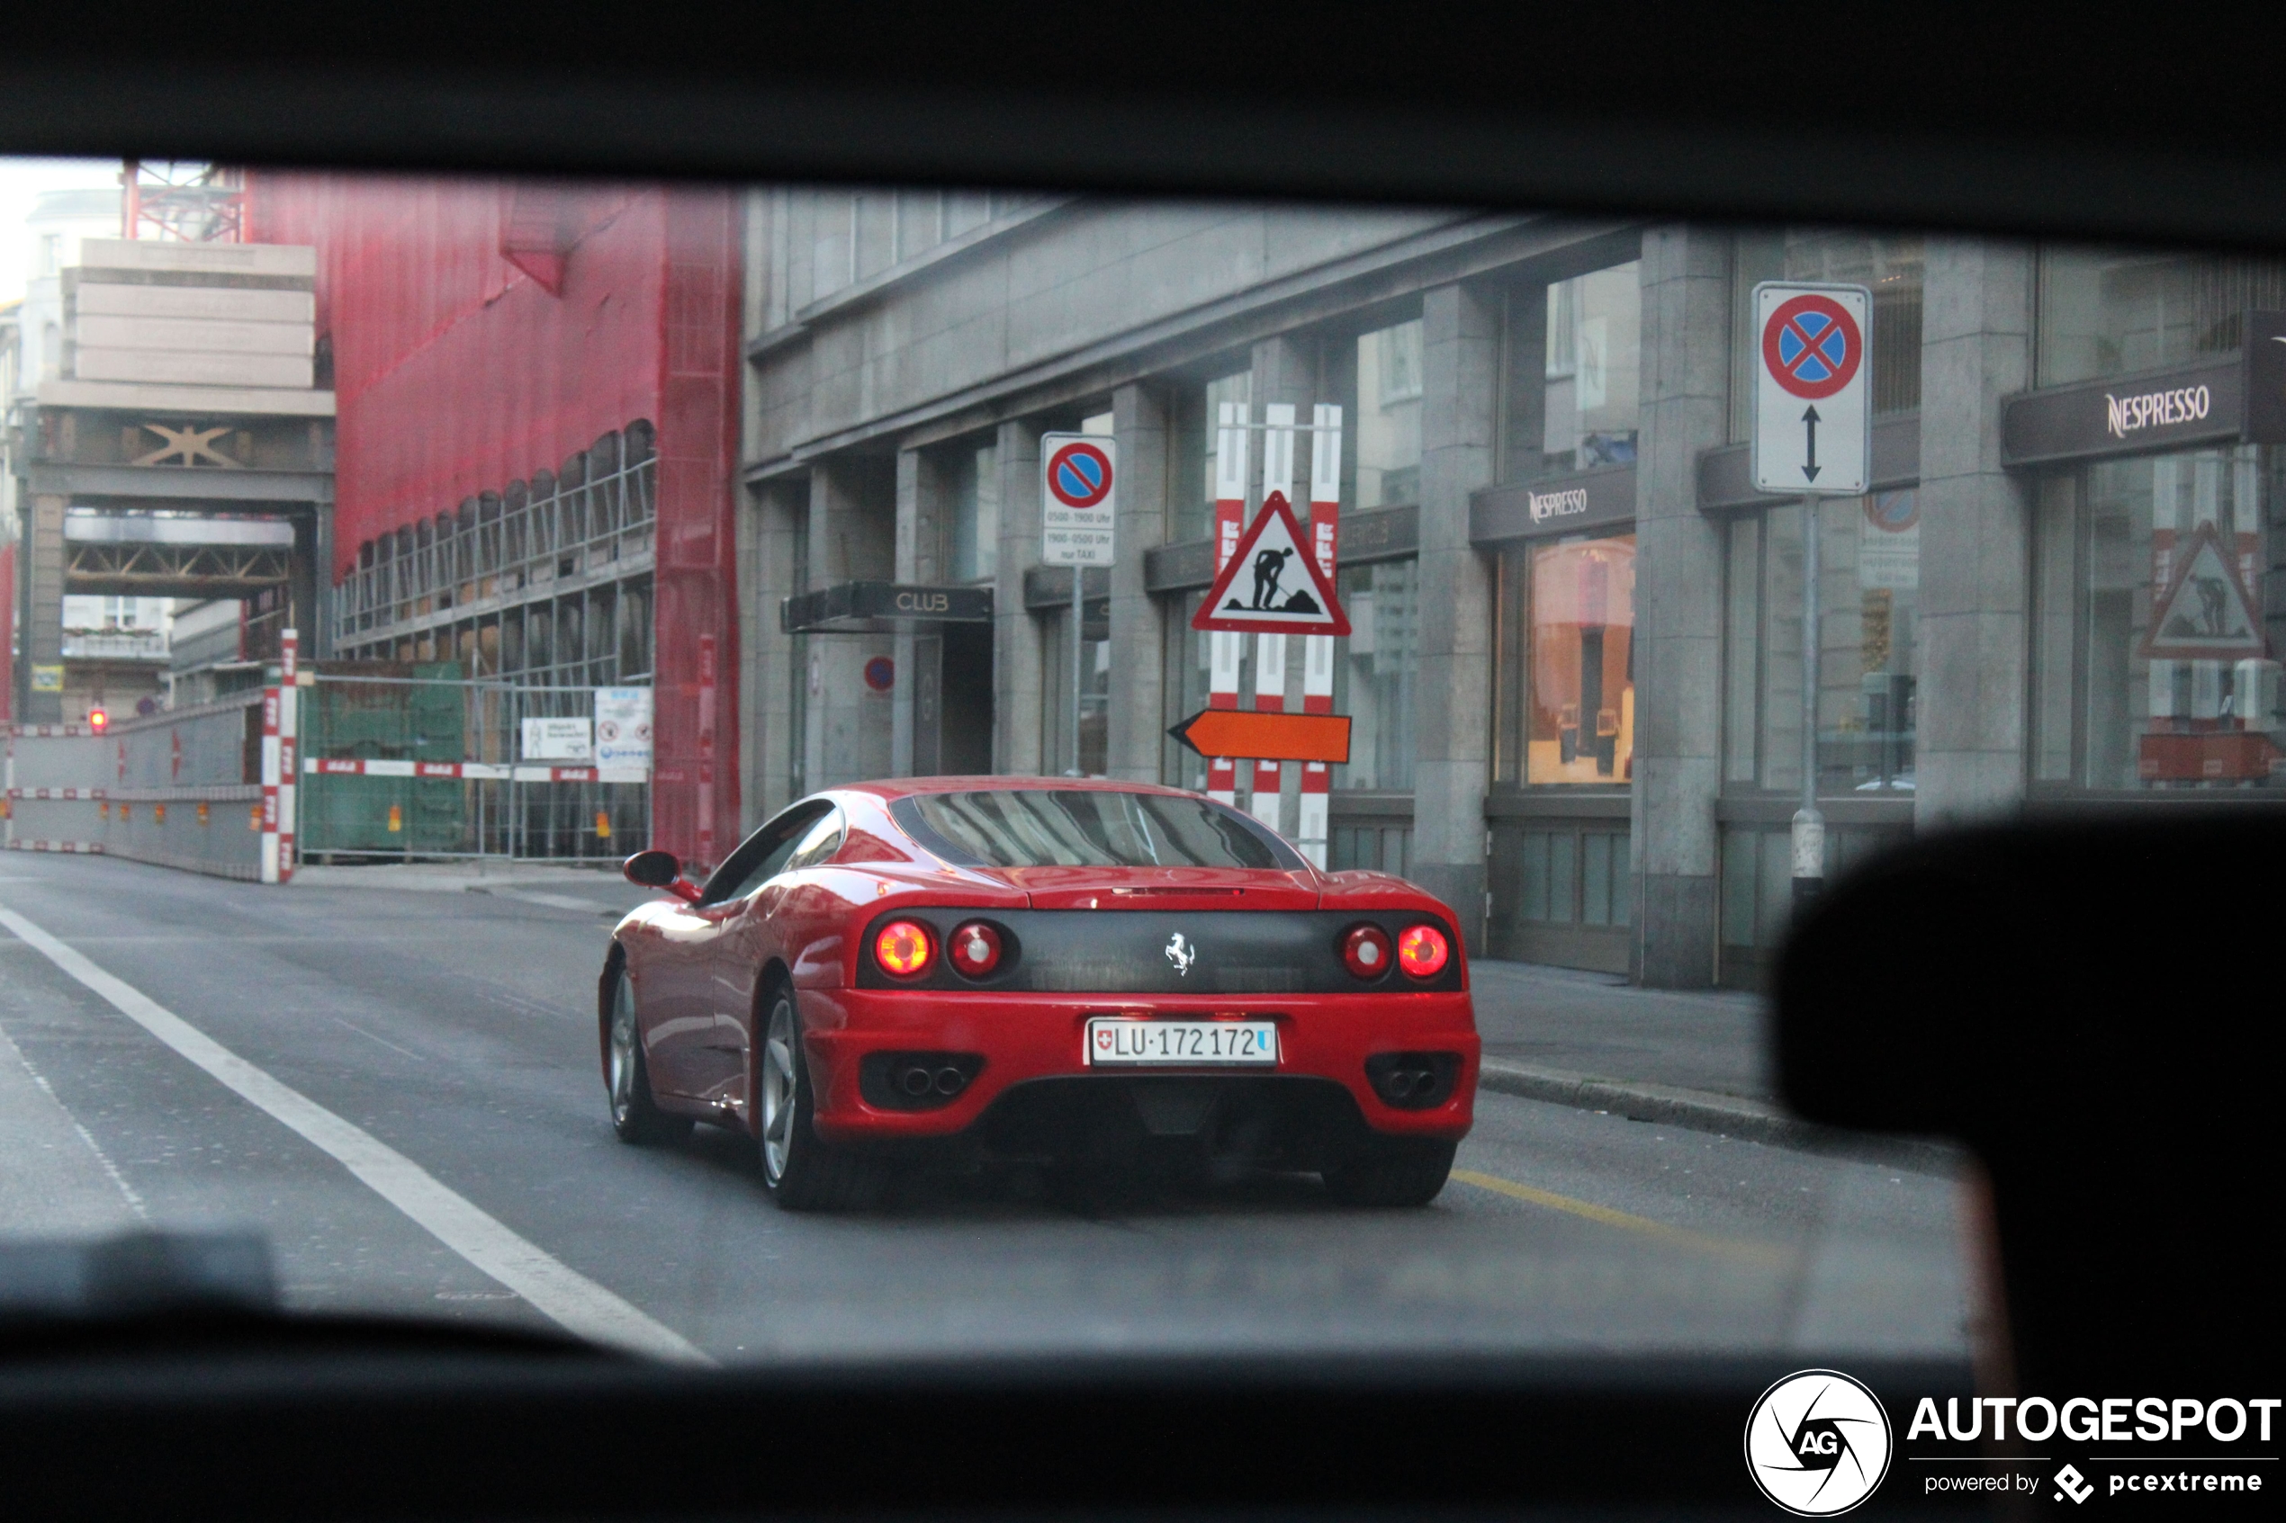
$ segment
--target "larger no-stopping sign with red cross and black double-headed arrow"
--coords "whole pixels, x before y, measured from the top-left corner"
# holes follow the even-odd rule
[[[1765,281],[1753,288],[1753,331],[1756,491],[1863,493],[1872,295]]]

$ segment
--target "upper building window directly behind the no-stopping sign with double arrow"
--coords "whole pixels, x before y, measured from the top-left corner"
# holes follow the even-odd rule
[[[1753,288],[1763,281],[1831,281],[1870,290],[1872,411],[1918,409],[1923,269],[1918,233],[1740,233],[1731,258],[1731,438],[1742,441],[1753,432]]]

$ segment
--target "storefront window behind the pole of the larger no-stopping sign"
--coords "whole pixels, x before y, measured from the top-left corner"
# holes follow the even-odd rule
[[[1920,500],[1820,507],[1817,790],[1913,790]],[[1801,788],[1801,507],[1728,530],[1724,781]]]

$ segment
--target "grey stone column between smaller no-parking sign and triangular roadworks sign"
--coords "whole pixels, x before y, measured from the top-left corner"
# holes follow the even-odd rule
[[[1118,559],[1111,566],[1111,735],[1104,772],[1159,781],[1166,731],[1166,626],[1143,591],[1143,553],[1166,541],[1166,393],[1134,384],[1111,393],[1120,459]]]

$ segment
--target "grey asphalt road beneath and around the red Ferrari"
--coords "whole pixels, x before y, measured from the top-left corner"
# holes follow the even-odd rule
[[[441,1185],[430,1222],[434,1199],[473,1203],[514,1263],[722,1361],[1966,1349],[1950,1180],[1495,1094],[1426,1210],[1248,1176],[1074,1212],[1008,1171],[871,1217],[780,1212],[743,1137],[610,1135],[592,991],[624,893],[277,891],[0,856],[0,909],[192,1032],[169,1046],[0,929],[0,1235],[254,1226],[290,1306],[551,1324],[533,1290],[551,1281],[448,1247],[247,1098],[277,1080]],[[199,1034],[258,1073],[226,1087],[185,1057]]]

